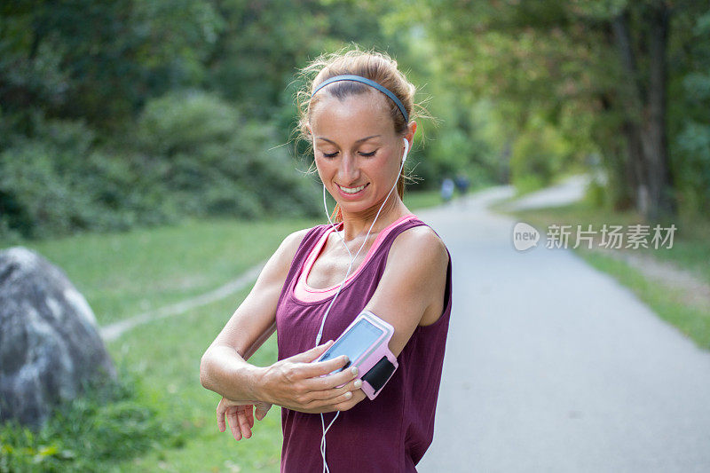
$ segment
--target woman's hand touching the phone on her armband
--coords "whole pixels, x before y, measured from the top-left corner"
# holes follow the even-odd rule
[[[346,356],[313,362],[332,344],[331,340],[265,368],[264,399],[293,411],[317,414],[344,411],[365,398],[357,368],[329,374],[348,363]]]

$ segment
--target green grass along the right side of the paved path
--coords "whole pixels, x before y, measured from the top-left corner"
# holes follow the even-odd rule
[[[500,211],[501,207],[497,206],[497,209]],[[600,230],[604,223],[624,225],[625,230],[626,225],[643,224],[643,218],[634,211],[611,212],[594,208],[584,201],[559,208],[508,213],[518,221],[533,225],[541,233],[551,224],[583,225],[582,228],[591,224],[592,229],[596,231]],[[663,223],[662,226],[666,227],[670,223]],[[638,248],[627,251],[675,264],[692,273],[698,280],[710,283],[710,240],[707,239],[710,234],[710,222],[679,218],[673,223],[676,226],[673,248]],[[570,242],[572,243],[572,239]],[[642,272],[611,256],[604,256],[581,246],[575,251],[589,264],[611,274],[621,284],[631,288],[661,319],[667,320],[683,334],[688,335],[699,347],[710,350],[710,313],[706,307],[690,304],[683,299],[679,289],[648,280]]]

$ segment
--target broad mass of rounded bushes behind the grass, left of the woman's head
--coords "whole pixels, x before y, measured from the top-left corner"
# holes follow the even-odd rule
[[[249,122],[217,96],[171,93],[146,104],[120,148],[83,122],[35,117],[31,138],[0,153],[0,237],[125,230],[183,216],[319,215],[271,124]]]

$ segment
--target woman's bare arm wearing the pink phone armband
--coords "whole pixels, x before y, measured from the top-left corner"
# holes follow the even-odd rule
[[[400,233],[392,243],[383,277],[364,310],[394,327],[389,346],[395,356],[404,350],[425,313],[441,315],[448,261],[444,242],[426,225]],[[361,389],[354,390],[352,398],[335,410],[347,411],[364,398]]]

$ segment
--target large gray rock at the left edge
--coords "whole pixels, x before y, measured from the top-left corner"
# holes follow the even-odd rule
[[[0,422],[39,427],[105,376],[114,364],[66,274],[27,248],[0,251]]]

